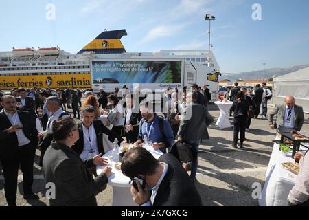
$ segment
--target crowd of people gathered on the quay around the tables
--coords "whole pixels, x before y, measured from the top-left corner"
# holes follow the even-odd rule
[[[267,101],[272,94],[264,83],[253,90],[238,87],[238,83],[234,85],[225,98],[233,102],[230,111],[234,117],[232,146],[237,148],[240,133],[242,148],[251,118],[258,118],[261,104],[262,117],[266,117]],[[118,145],[127,142],[135,146],[124,155],[121,168],[130,179],[139,176],[149,186],[140,193],[139,181],[137,188],[131,187],[137,204],[201,206],[201,197],[194,185],[198,146],[202,140],[209,139],[207,127],[214,122],[209,114],[211,94],[207,85],[168,88],[159,100],[159,107],[141,94],[138,87],[133,93],[126,86],[116,88],[113,94],[106,94],[100,88],[97,96],[89,90],[84,93],[83,103],[81,98],[80,89],[73,88],[56,89],[54,94],[50,89],[19,88],[1,95],[0,161],[9,206],[16,206],[19,166],[23,172],[24,198],[38,199],[32,192],[36,148],[41,151],[39,164],[45,181],[53,182],[58,189],[56,198],[49,199],[51,206],[95,206],[95,195],[106,188],[111,175],[108,167],[102,173],[95,172],[95,165],[107,164],[102,157],[108,151],[103,135],[110,142],[117,140]],[[72,109],[73,117],[68,109]],[[304,113],[295,105],[293,96],[288,96],[284,105],[276,106],[269,114],[268,122],[271,129],[300,131]],[[150,142],[152,148],[163,155],[155,159],[140,147],[145,142]],[[172,151],[175,142],[190,146],[191,161],[182,164]],[[190,176],[188,170],[191,170]],[[306,186],[308,192],[304,181],[307,174],[304,175],[299,187]],[[290,198],[291,203],[297,201],[295,190]]]

